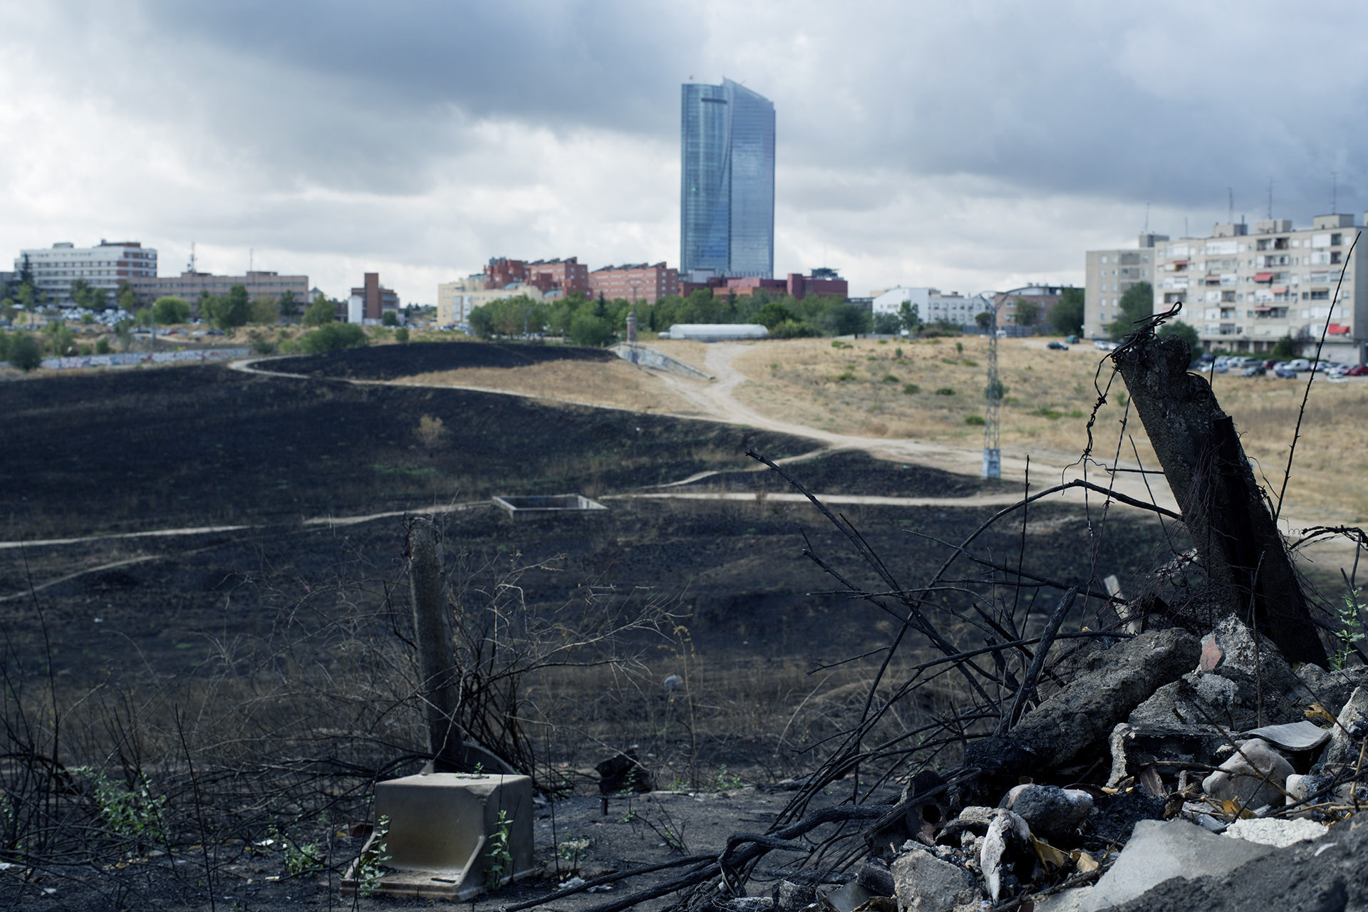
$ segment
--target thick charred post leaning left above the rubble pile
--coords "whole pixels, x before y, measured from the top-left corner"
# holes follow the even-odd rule
[[[1211,384],[1187,373],[1190,357],[1181,338],[1150,330],[1112,354],[1220,607],[1256,625],[1289,662],[1324,667],[1326,648],[1235,424]]]

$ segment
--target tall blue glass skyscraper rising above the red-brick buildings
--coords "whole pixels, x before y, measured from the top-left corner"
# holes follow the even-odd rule
[[[774,103],[685,82],[680,153],[680,278],[774,278]]]

